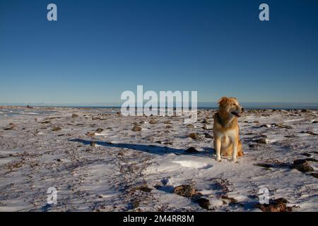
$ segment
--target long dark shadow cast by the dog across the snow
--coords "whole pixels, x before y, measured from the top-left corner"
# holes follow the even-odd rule
[[[110,143],[106,141],[89,141],[84,139],[70,139],[69,141],[83,143],[84,145],[90,145],[91,142],[95,142],[97,145],[101,145],[104,147],[112,147],[112,148],[128,148],[131,150],[139,150],[146,153],[151,153],[155,155],[167,155],[173,153],[175,155],[195,155],[199,157],[212,157],[212,154],[215,153],[213,148],[203,148],[202,151],[197,152],[187,152],[187,149],[177,149],[170,148],[167,146],[159,146],[159,145],[145,145],[145,144],[136,144],[136,143]]]

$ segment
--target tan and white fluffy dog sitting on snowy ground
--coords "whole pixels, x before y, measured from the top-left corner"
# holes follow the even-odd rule
[[[216,160],[220,162],[223,155],[232,156],[232,161],[236,162],[237,156],[243,155],[237,118],[241,117],[244,108],[235,97],[222,97],[218,100],[218,105],[213,125]]]

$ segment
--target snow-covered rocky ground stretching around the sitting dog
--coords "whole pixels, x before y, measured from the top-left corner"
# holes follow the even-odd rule
[[[117,111],[0,108],[0,211],[206,211],[175,194],[179,185],[193,186],[209,211],[259,210],[264,187],[293,211],[318,210],[315,110],[247,111],[239,119],[245,155],[237,164],[215,160],[211,109],[199,110],[193,126],[181,117]],[[305,158],[312,172],[291,167]],[[57,189],[56,205],[47,204],[49,187]]]

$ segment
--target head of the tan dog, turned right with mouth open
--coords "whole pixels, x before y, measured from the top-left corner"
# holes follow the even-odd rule
[[[228,114],[228,117],[241,117],[244,108],[235,97],[222,97],[218,100],[219,111],[223,114]]]

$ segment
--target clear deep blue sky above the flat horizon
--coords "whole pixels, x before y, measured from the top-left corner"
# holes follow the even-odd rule
[[[318,1],[0,1],[0,103],[119,102],[136,85],[317,103]]]

